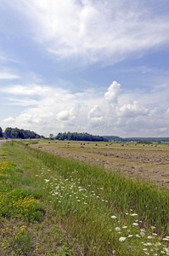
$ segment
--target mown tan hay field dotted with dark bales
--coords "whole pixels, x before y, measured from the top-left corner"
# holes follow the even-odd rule
[[[149,179],[169,187],[169,146],[135,143],[84,143],[42,141],[31,145],[51,154],[85,161],[110,172],[121,171],[130,177]]]

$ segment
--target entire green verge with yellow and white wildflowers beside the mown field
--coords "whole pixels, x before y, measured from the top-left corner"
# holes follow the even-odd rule
[[[1,148],[0,255],[169,255],[166,186],[26,143]]]

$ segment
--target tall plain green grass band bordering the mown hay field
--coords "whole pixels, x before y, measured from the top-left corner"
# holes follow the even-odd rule
[[[120,171],[105,172],[98,166],[90,166],[76,160],[62,159],[33,148],[26,148],[31,155],[42,160],[48,168],[57,170],[62,177],[79,179],[83,188],[88,185],[97,195],[104,198],[107,207],[124,217],[131,208],[146,227],[155,225],[159,234],[169,236],[169,194],[155,184],[132,180],[121,175]],[[76,171],[76,172],[75,172]],[[103,189],[100,189],[103,188]]]

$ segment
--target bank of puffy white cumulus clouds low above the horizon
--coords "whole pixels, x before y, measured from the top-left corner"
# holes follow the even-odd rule
[[[150,101],[150,104],[145,102],[144,93],[142,95],[141,92],[138,95],[139,102],[132,102],[134,93],[125,94],[121,84],[115,81],[102,94],[98,90],[72,93],[70,90],[39,84],[34,84],[36,90],[27,85],[20,90],[18,85],[15,86],[16,90],[14,85],[13,90],[5,90],[5,96],[7,92],[8,95],[14,94],[14,98],[7,98],[6,104],[22,104],[25,108],[21,113],[14,113],[14,116],[10,114],[3,119],[4,125],[34,130],[45,136],[59,131],[90,131],[93,134],[121,137],[156,136],[155,132],[169,132],[169,108],[156,108],[155,100]],[[149,98],[154,96],[156,99],[155,93],[149,94]],[[25,105],[23,97],[26,97]],[[34,105],[31,106],[29,101]]]

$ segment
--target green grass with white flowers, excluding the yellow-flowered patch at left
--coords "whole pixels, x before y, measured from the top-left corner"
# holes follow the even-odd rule
[[[10,175],[20,177],[8,177],[10,188],[20,184],[45,209],[40,222],[27,219],[26,236],[33,230],[32,239],[39,243],[38,254],[30,244],[30,255],[169,253],[167,190],[22,143],[6,143],[5,148],[19,170]],[[48,237],[45,244],[42,234]]]

